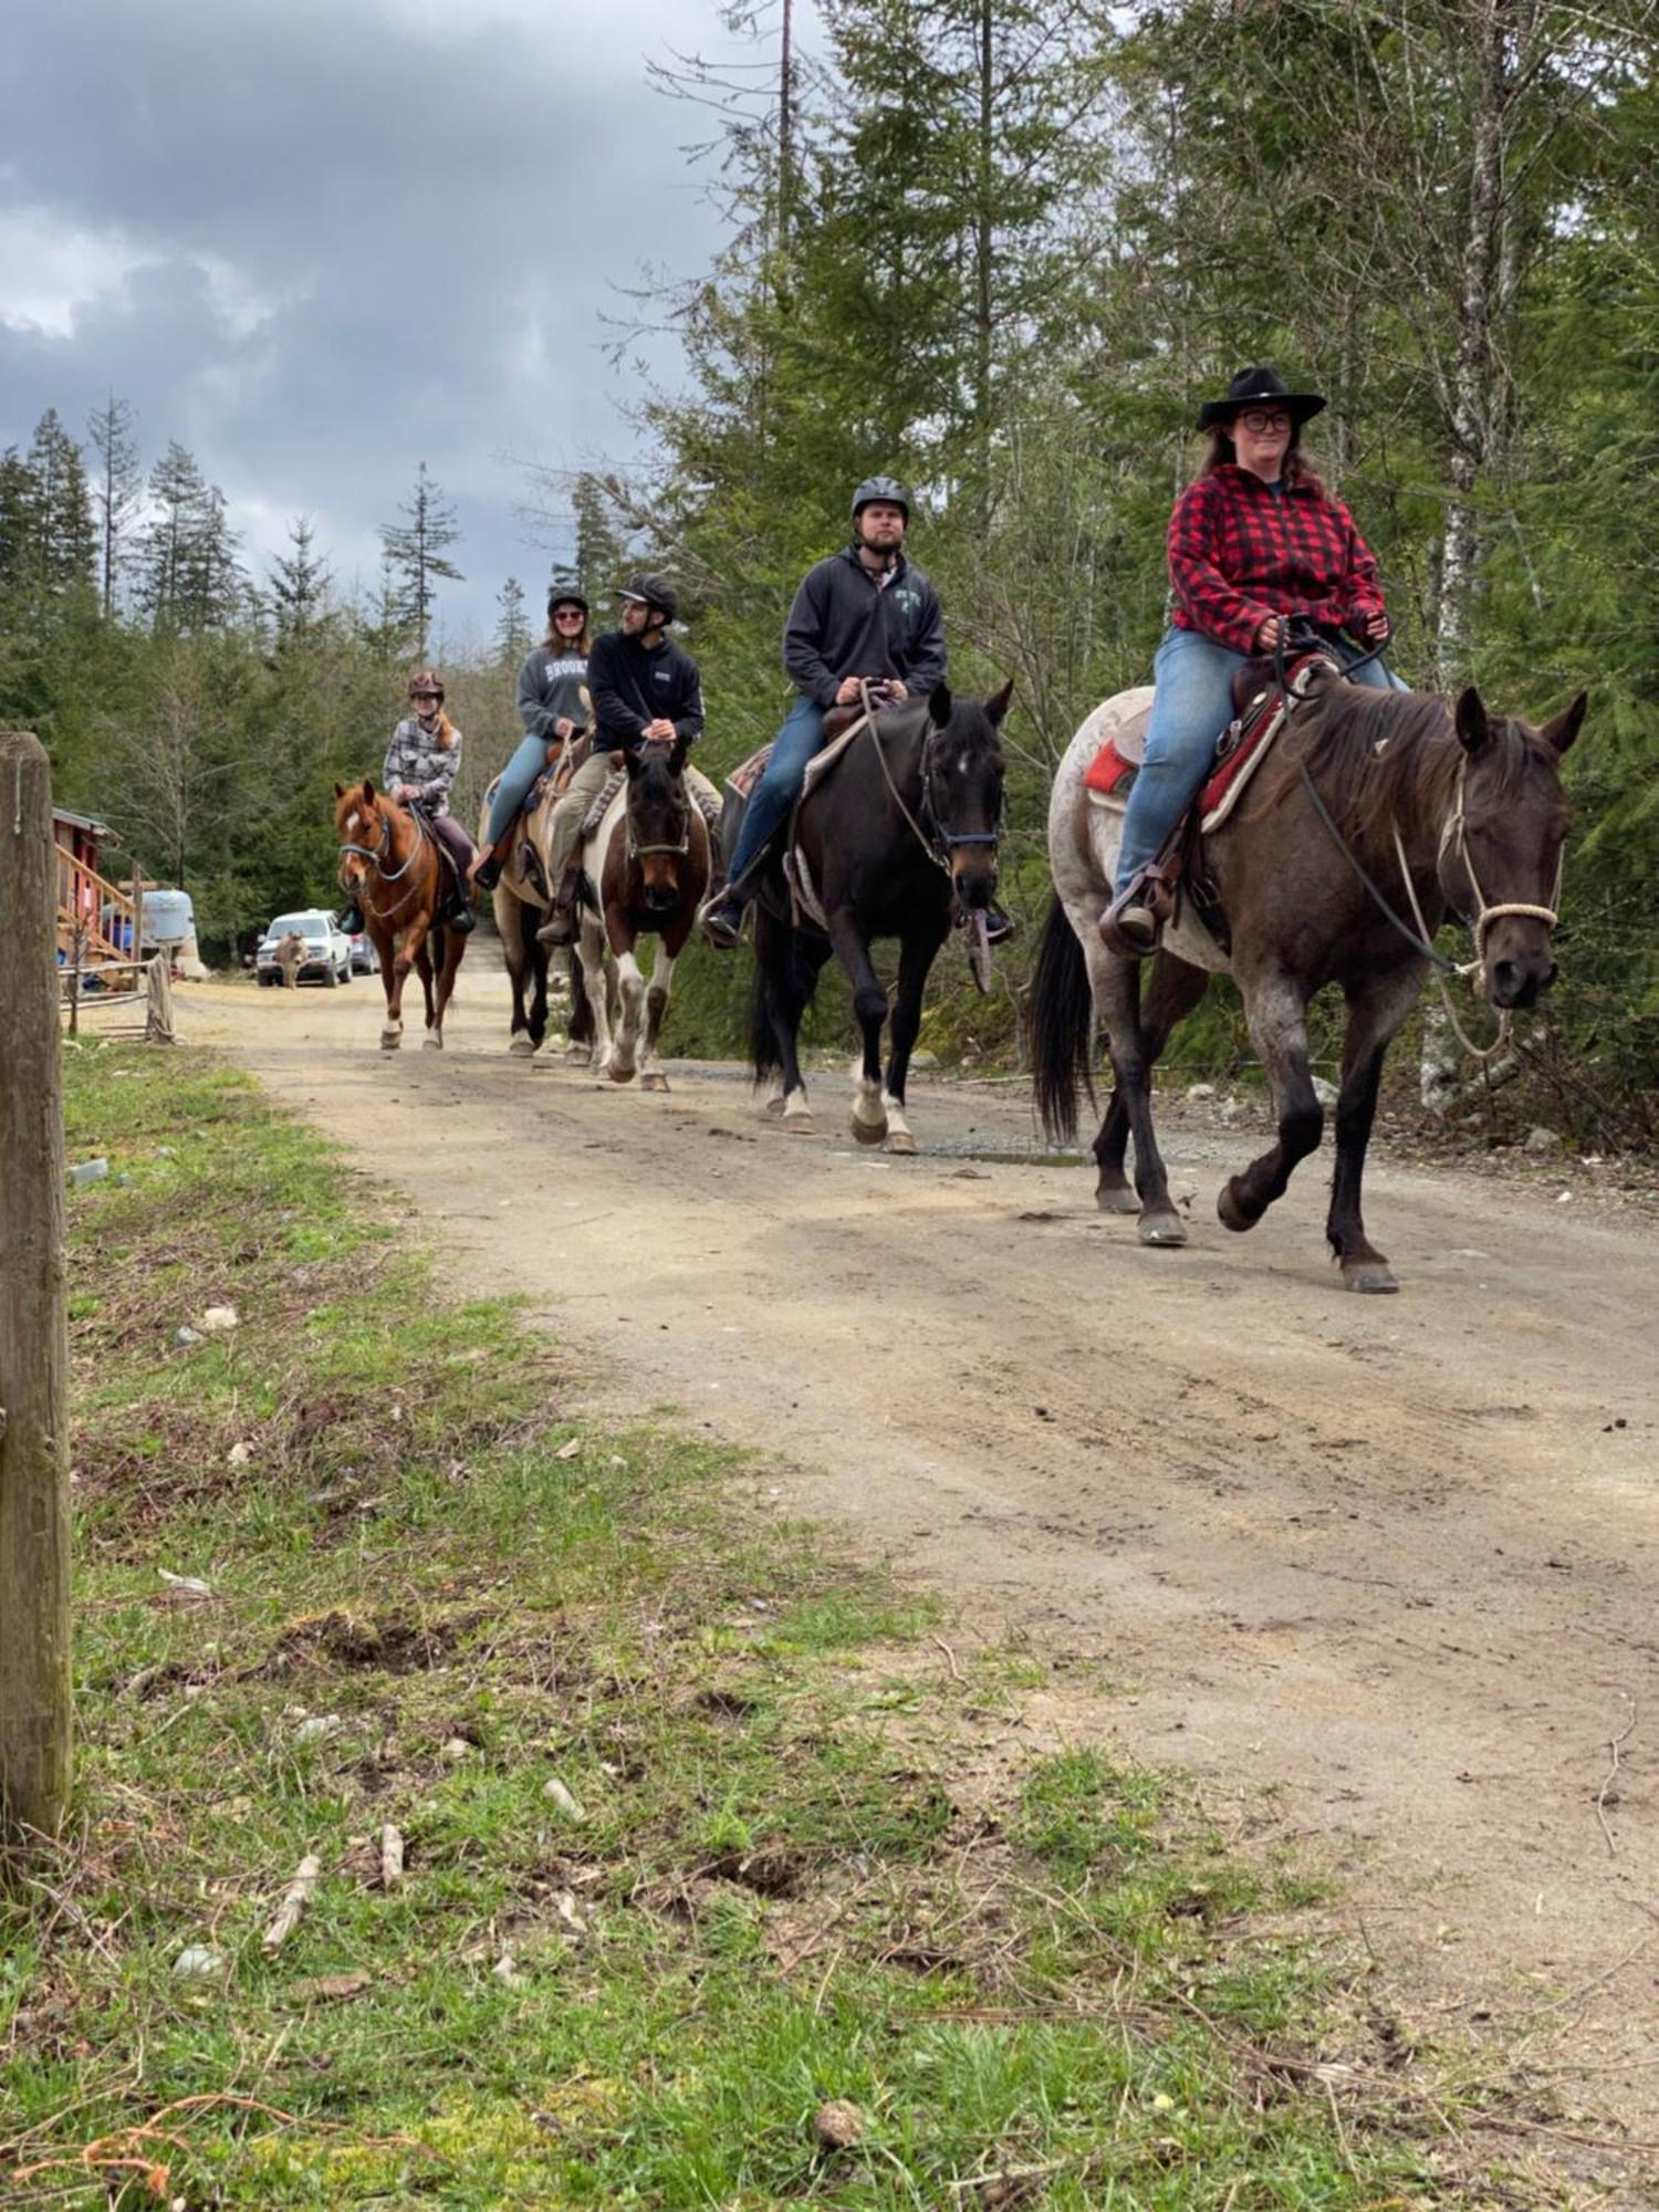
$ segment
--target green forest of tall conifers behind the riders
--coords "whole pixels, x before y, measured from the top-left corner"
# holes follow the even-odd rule
[[[655,71],[728,243],[619,319],[624,352],[677,341],[648,458],[526,469],[524,504],[595,606],[624,566],[681,584],[719,772],[787,708],[783,615],[847,538],[852,484],[916,487],[953,684],[1015,679],[1024,925],[989,1002],[940,964],[925,1042],[1018,1060],[1053,765],[1146,679],[1199,398],[1272,361],[1329,394],[1314,458],[1378,551],[1407,679],[1473,677],[1535,719],[1590,690],[1548,1079],[1579,1135],[1650,1144],[1659,9],[821,0],[810,51],[790,0],[723,15],[734,66]],[[332,896],[332,785],[378,768],[465,560],[458,518],[411,469],[378,586],[352,595],[303,515],[250,573],[197,460],[170,442],[146,469],[119,394],[84,436],[55,414],[13,429],[0,726],[40,732],[60,803],[184,885],[228,962]],[[542,584],[504,580],[489,646],[445,664],[469,823],[518,737]],[[741,956],[690,958],[677,1048],[732,1051],[745,995]],[[1237,1055],[1225,1013],[1192,1051]]]

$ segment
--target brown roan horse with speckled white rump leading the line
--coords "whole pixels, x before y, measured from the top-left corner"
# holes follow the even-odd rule
[[[1473,929],[1480,984],[1495,1009],[1531,1006],[1555,980],[1551,931],[1568,827],[1559,770],[1584,721],[1584,692],[1533,730],[1491,717],[1473,688],[1451,708],[1318,670],[1256,770],[1248,805],[1203,841],[1232,953],[1183,898],[1141,1002],[1139,962],[1108,953],[1097,927],[1113,896],[1124,816],[1091,801],[1084,774],[1121,721],[1121,701],[1144,697],[1121,695],[1088,717],[1048,805],[1055,900],[1031,1009],[1044,1126],[1051,1137],[1075,1133],[1077,1079],[1088,1082],[1102,1022],[1117,1091],[1095,1137],[1097,1203],[1137,1212],[1146,1245],[1186,1243],[1152,1137],[1150,1073],[1210,973],[1230,971],[1267,1068],[1279,1141],[1225,1183],[1217,1210],[1230,1230],[1254,1228],[1323,1135],[1307,1002],[1336,984],[1347,1000],[1347,1037],[1325,1234],[1347,1290],[1396,1290],[1360,1221],[1383,1055],[1429,962],[1449,964],[1431,945],[1449,911]],[[1130,1135],[1135,1194],[1124,1177]]]

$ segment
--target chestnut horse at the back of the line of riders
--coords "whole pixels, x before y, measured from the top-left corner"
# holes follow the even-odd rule
[[[363,925],[380,956],[385,1024],[380,1048],[403,1044],[403,984],[414,967],[427,993],[427,1035],[442,1051],[445,1006],[456,989],[456,971],[467,953],[467,936],[438,922],[445,905],[445,863],[438,841],[411,807],[403,807],[374,781],[334,785],[334,832],[341,841],[341,887],[363,909]],[[429,942],[434,940],[434,942]],[[431,971],[438,956],[438,993]]]

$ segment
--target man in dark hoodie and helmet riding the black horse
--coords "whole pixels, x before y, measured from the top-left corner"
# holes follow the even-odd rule
[[[787,823],[807,761],[823,748],[823,717],[854,706],[869,684],[880,706],[925,699],[945,681],[945,617],[938,593],[905,560],[909,500],[891,476],[872,476],[852,495],[854,542],[810,568],[783,630],[783,666],[799,692],[750,799],[728,887],[703,907],[703,933],[721,949],[743,933],[759,860]]]

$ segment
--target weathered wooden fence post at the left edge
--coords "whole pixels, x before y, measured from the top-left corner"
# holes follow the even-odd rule
[[[69,1743],[58,869],[46,752],[0,732],[0,1827],[58,1829]]]

